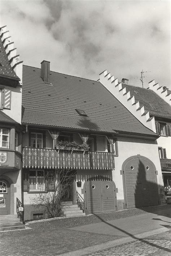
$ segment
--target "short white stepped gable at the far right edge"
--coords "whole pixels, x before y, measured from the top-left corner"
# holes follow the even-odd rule
[[[155,83],[155,80],[150,81],[149,89],[153,90],[158,94],[163,100],[165,100],[169,105],[171,105],[171,91],[166,88],[166,86],[160,86],[158,83]]]

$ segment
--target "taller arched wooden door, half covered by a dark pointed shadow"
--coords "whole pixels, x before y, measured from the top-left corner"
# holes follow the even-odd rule
[[[150,160],[135,156],[127,161],[124,167],[127,208],[158,205],[155,176]]]

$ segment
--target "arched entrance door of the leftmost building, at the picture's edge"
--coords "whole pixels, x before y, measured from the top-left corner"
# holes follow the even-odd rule
[[[10,214],[10,187],[4,180],[0,180],[0,215]]]

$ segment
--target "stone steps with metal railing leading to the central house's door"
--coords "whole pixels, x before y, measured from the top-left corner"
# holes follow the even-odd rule
[[[78,205],[73,205],[73,202],[63,202],[63,214],[66,217],[77,217],[77,216],[85,216],[82,210],[78,207]]]

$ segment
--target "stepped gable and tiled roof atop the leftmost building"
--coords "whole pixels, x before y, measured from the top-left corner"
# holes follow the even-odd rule
[[[19,81],[22,84],[22,62],[19,61],[19,55],[6,26],[0,28],[0,77],[4,79],[4,85],[8,85],[5,79],[12,80],[10,86],[16,87]]]

